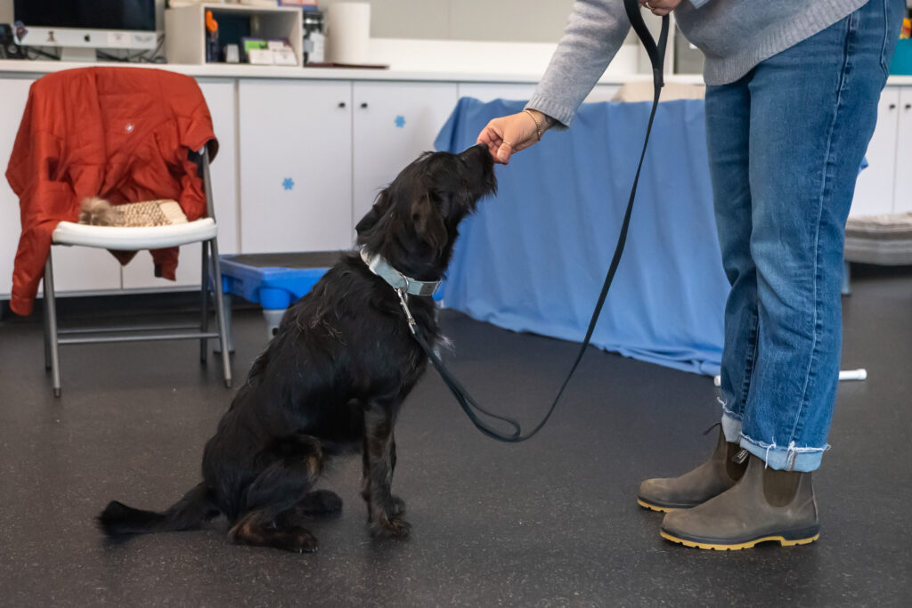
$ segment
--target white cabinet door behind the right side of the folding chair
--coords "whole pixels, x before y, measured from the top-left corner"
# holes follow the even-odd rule
[[[237,133],[233,80],[203,80],[200,83],[212,114],[212,129],[219,140],[219,152],[212,160],[212,197],[215,220],[219,225],[219,252],[238,252],[237,222]],[[149,252],[140,252],[123,267],[124,289],[196,287],[202,272],[202,245],[192,243],[181,247],[177,280],[157,279],[152,273]]]

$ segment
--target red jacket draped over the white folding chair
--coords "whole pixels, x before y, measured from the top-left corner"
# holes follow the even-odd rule
[[[192,150],[218,143],[192,77],[141,67],[50,74],[28,94],[6,179],[19,197],[22,234],[10,308],[30,314],[58,222],[77,222],[83,198],[112,204],[173,199],[189,221],[206,215]],[[136,252],[113,252],[128,263]],[[156,276],[174,279],[178,249],[152,252]]]

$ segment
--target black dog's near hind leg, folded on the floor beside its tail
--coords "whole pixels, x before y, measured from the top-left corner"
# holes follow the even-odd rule
[[[296,506],[323,471],[323,450],[316,438],[295,435],[278,439],[261,454],[268,462],[246,490],[246,505],[228,531],[237,544],[285,551],[316,551],[316,536],[298,525]]]

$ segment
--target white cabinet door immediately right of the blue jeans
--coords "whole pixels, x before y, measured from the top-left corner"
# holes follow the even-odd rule
[[[865,155],[869,166],[858,175],[850,215],[893,212],[899,88],[887,87],[877,105],[877,126]]]

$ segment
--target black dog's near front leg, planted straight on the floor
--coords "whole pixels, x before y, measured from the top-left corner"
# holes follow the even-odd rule
[[[393,438],[392,412],[389,403],[371,402],[365,412],[365,437],[361,496],[368,502],[368,521],[371,530],[389,538],[409,535],[409,522],[400,515],[402,500],[391,492],[396,443]]]

